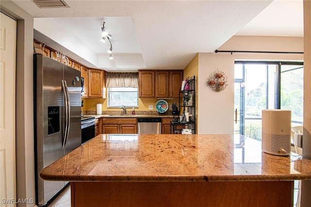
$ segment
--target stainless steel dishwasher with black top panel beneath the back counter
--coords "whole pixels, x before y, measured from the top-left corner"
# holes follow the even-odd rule
[[[161,134],[161,118],[138,118],[138,134]]]

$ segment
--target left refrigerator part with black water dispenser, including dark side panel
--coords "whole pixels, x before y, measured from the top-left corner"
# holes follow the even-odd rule
[[[36,202],[38,205],[44,205],[65,185],[64,182],[44,181],[39,177],[43,168],[64,156],[62,149],[64,98],[61,89],[63,64],[40,54],[35,58]]]

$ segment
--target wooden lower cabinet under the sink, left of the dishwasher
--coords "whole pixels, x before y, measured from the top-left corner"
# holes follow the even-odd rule
[[[103,134],[137,134],[136,118],[103,118]]]

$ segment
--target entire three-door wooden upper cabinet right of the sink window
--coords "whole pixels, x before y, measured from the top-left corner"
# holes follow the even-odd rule
[[[182,70],[140,70],[139,98],[178,98]]]

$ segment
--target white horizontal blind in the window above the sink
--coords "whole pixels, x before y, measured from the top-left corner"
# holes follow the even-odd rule
[[[108,87],[108,108],[138,107],[138,88],[137,87]]]

